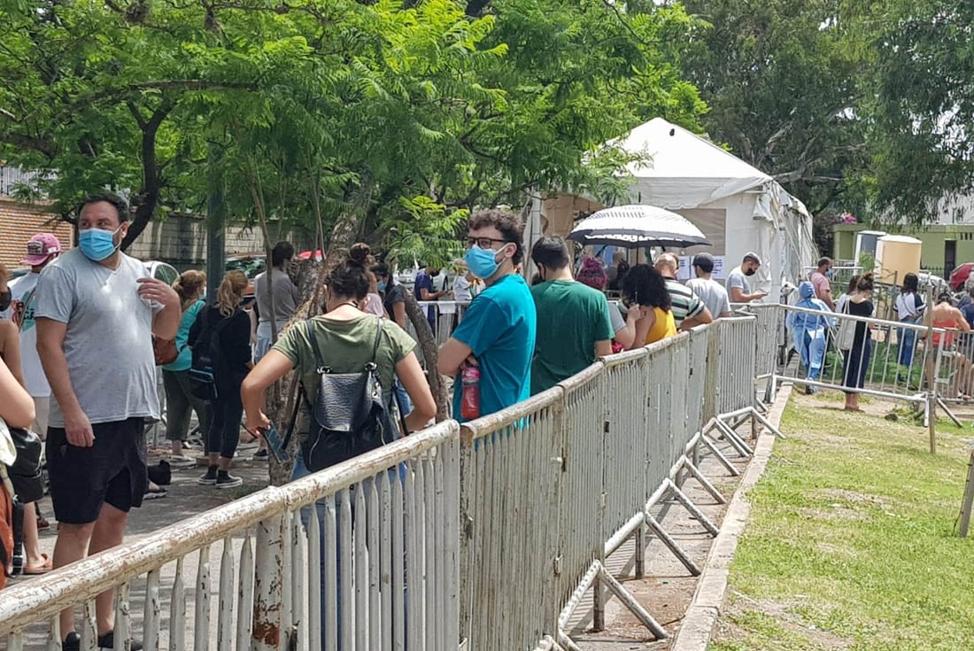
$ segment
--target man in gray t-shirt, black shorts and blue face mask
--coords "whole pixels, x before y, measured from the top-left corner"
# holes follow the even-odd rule
[[[182,317],[176,292],[120,250],[129,232],[123,199],[90,197],[77,214],[78,248],[41,272],[34,308],[55,398],[47,438],[55,567],[122,543],[148,485],[143,421],[159,418],[152,335],[173,338]],[[95,599],[102,649],[114,645],[113,593]],[[72,608],[61,611],[60,631],[61,648],[80,648]]]

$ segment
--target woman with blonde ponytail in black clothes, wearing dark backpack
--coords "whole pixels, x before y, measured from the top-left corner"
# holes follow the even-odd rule
[[[196,378],[194,392],[209,400],[213,414],[206,445],[209,467],[199,481],[217,488],[233,488],[244,483],[230,474],[230,463],[241,439],[244,414],[241,384],[253,366],[250,319],[240,308],[246,287],[243,271],[228,272],[216,292],[216,304],[202,310],[187,339],[193,349],[190,374]],[[207,368],[212,379],[201,380]]]

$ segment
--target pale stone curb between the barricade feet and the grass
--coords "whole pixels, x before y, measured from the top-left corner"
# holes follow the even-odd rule
[[[768,421],[774,427],[778,427],[781,423],[781,414],[788,404],[791,392],[792,385],[781,387],[768,411]],[[687,608],[670,651],[706,651],[710,643],[710,636],[720,617],[724,595],[727,593],[731,560],[737,551],[737,541],[751,516],[751,504],[747,501],[747,493],[765,474],[774,439],[774,435],[769,432],[762,434],[758,439],[754,457],[748,464],[744,477],[737,484],[727,514],[724,516],[724,522],[721,524],[720,533],[717,534],[710,548],[710,554],[707,555],[707,562],[696,585],[693,600]]]

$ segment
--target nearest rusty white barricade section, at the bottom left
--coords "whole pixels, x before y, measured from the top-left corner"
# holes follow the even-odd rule
[[[116,643],[147,649],[452,651],[458,433],[442,423],[8,587],[0,636],[55,648],[59,611],[80,604],[94,648],[94,598],[114,588]]]

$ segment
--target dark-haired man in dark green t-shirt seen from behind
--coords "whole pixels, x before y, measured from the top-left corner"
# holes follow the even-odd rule
[[[572,278],[564,240],[543,237],[531,259],[544,281],[531,287],[539,332],[531,365],[533,396],[611,355],[613,327],[605,294]]]

